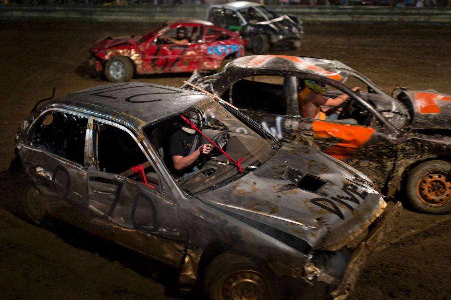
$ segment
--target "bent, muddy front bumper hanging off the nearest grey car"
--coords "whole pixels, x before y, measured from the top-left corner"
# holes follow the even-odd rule
[[[344,271],[343,278],[337,288],[330,293],[333,300],[345,300],[354,290],[358,278],[363,271],[368,256],[388,236],[399,221],[402,205],[397,202],[383,219],[369,232],[366,238],[355,248]]]

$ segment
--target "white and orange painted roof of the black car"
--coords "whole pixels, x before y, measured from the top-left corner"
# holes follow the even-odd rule
[[[352,70],[336,60],[288,55],[250,55],[236,58],[226,65],[227,72],[242,68],[266,71],[294,70],[326,76],[337,81],[345,79],[347,74],[341,68]]]

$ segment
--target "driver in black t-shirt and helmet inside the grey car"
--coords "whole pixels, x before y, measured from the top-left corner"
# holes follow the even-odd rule
[[[184,116],[201,129],[201,115],[196,112]],[[189,125],[181,124],[169,138],[169,155],[172,158],[173,175],[179,181],[188,179],[199,171],[197,158],[210,153],[213,145],[201,144],[200,134]]]

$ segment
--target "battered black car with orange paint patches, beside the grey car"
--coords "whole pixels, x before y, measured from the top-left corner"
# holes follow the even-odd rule
[[[347,96],[329,108],[334,118],[301,115],[298,93],[306,80],[322,84],[325,97]],[[421,212],[451,211],[449,95],[396,88],[390,96],[339,61],[284,55],[241,57],[220,73],[196,72],[190,81],[239,107],[275,137],[353,166],[388,197],[403,191]]]

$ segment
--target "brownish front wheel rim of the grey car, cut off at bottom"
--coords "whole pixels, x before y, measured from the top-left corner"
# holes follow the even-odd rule
[[[258,272],[242,270],[226,277],[219,285],[220,300],[270,299],[269,283]]]

